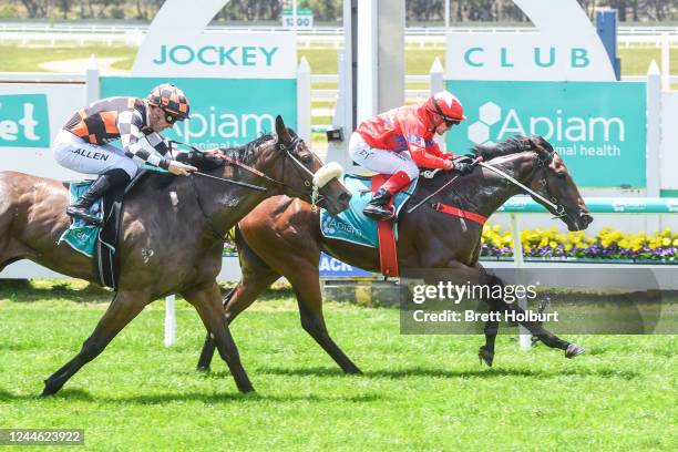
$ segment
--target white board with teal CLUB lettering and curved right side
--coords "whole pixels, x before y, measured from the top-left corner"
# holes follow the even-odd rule
[[[514,0],[533,33],[449,33],[448,80],[614,81],[596,29],[576,0]]]

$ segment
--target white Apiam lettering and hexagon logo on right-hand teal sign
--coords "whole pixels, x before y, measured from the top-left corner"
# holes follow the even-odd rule
[[[491,127],[501,122],[500,130],[492,135]],[[502,107],[494,102],[485,102],[479,111],[479,121],[469,126],[468,137],[474,144],[493,145],[514,135],[542,135],[558,143],[614,142],[624,143],[626,126],[618,116],[577,116],[566,115],[563,109],[555,109],[547,114],[532,116],[518,114],[516,109],[508,109],[502,115]]]

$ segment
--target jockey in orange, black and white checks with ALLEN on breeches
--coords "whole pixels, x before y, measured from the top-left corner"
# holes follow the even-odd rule
[[[184,92],[164,83],[146,99],[109,97],[75,112],[56,135],[54,158],[69,170],[99,177],[66,214],[101,226],[101,219],[89,212],[92,204],[109,189],[126,185],[144,164],[183,176],[197,171],[165,155],[170,145],[158,134],[187,120],[188,110]],[[117,138],[122,150],[109,144]],[[144,141],[162,156],[144,148]]]

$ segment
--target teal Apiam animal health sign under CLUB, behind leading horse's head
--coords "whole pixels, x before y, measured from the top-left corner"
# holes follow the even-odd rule
[[[646,84],[448,81],[468,117],[448,134],[461,153],[514,135],[544,136],[585,187],[645,187]]]

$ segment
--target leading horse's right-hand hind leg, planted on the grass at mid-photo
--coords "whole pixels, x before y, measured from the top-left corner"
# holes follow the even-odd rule
[[[337,346],[327,331],[322,317],[322,295],[317,268],[304,271],[297,268],[298,278],[290,280],[297,295],[301,328],[339,364],[346,373],[362,373]]]

